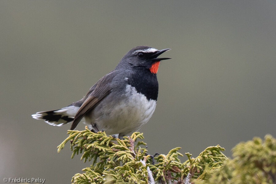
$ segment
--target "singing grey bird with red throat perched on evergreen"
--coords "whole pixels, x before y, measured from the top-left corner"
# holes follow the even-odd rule
[[[93,132],[103,130],[120,139],[130,136],[147,123],[155,111],[159,64],[171,59],[157,57],[168,50],[171,49],[132,48],[81,100],[61,109],[37,112],[32,117],[54,126],[73,121],[70,130],[82,122]]]

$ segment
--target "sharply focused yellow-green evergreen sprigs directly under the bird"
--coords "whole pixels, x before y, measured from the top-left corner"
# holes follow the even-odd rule
[[[134,132],[124,140],[107,136],[105,132],[93,133],[86,129],[83,131],[68,130],[68,138],[57,148],[58,152],[70,141],[73,154],[82,154],[84,162],[93,160],[90,167],[82,171],[85,173],[75,174],[72,183],[149,183],[153,177],[155,182],[161,183],[190,183],[191,178],[205,179],[206,171],[216,170],[223,165],[227,157],[221,153],[224,148],[219,145],[206,148],[196,158],[190,153],[181,163],[178,152],[180,148],[174,148],[167,155],[155,157],[155,164],[152,164],[151,156],[147,154],[146,145],[142,141],[134,142],[137,139],[144,139],[143,133]]]

